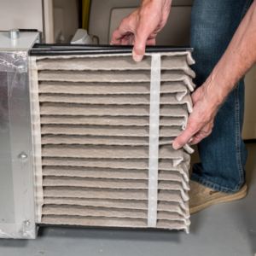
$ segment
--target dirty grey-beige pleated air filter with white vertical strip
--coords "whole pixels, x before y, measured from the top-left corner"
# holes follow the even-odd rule
[[[32,56],[37,222],[189,232],[189,51]]]

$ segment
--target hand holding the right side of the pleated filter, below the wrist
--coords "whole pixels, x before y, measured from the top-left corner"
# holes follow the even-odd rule
[[[208,90],[208,88],[206,82],[192,94],[193,112],[189,115],[186,129],[172,143],[173,148],[182,148],[191,138],[193,139],[189,143],[190,146],[200,143],[203,138],[211,134],[213,120],[224,98],[218,95],[216,89]]]

